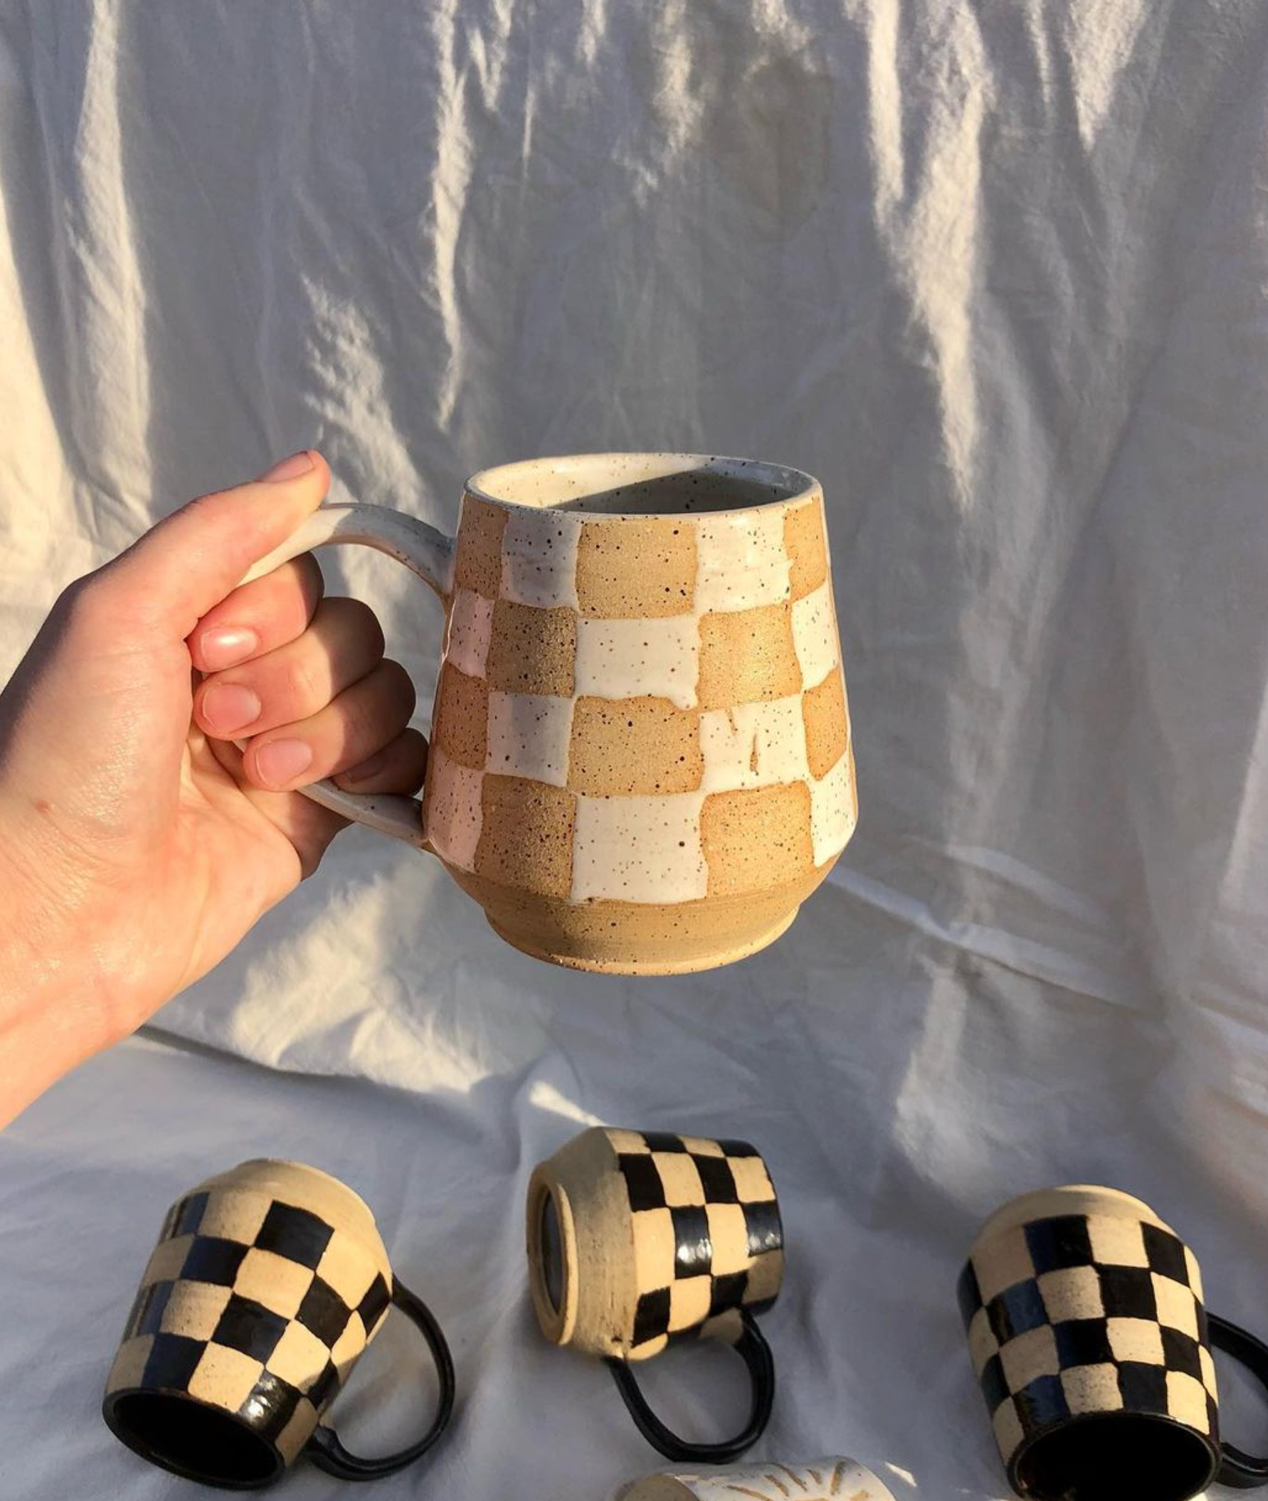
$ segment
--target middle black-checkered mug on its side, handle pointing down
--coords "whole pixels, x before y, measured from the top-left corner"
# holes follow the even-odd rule
[[[600,1355],[639,1432],[674,1460],[726,1463],[765,1429],[774,1361],[755,1315],[783,1280],[767,1166],[740,1141],[591,1127],[528,1184],[528,1280],[542,1333]],[[744,1429],[692,1444],[648,1408],[632,1366],[686,1339],[722,1339],[749,1367]]]

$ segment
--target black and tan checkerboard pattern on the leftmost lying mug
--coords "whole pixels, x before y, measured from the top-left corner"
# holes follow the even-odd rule
[[[360,1241],[311,1210],[194,1193],[168,1213],[107,1393],[189,1393],[248,1418],[290,1463],[390,1297]]]

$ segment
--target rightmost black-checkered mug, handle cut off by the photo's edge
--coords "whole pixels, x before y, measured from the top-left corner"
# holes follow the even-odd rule
[[[1085,1184],[986,1222],[959,1280],[995,1441],[1020,1496],[1188,1501],[1268,1483],[1220,1442],[1211,1346],[1268,1388],[1268,1345],[1208,1315],[1188,1246],[1140,1199]]]

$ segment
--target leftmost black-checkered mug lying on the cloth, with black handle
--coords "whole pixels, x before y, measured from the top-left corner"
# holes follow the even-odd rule
[[[389,1307],[422,1331],[440,1378],[428,1432],[383,1459],[348,1453],[321,1414]],[[393,1276],[362,1199],[299,1162],[245,1162],[168,1211],[107,1381],[102,1412],[144,1459],[230,1490],[300,1456],[342,1480],[390,1475],[440,1438],[453,1361]]]

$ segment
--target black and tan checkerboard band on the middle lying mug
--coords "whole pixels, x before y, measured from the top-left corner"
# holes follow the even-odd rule
[[[633,1217],[639,1298],[626,1357],[731,1337],[783,1280],[783,1225],[765,1163],[743,1141],[609,1130]]]

